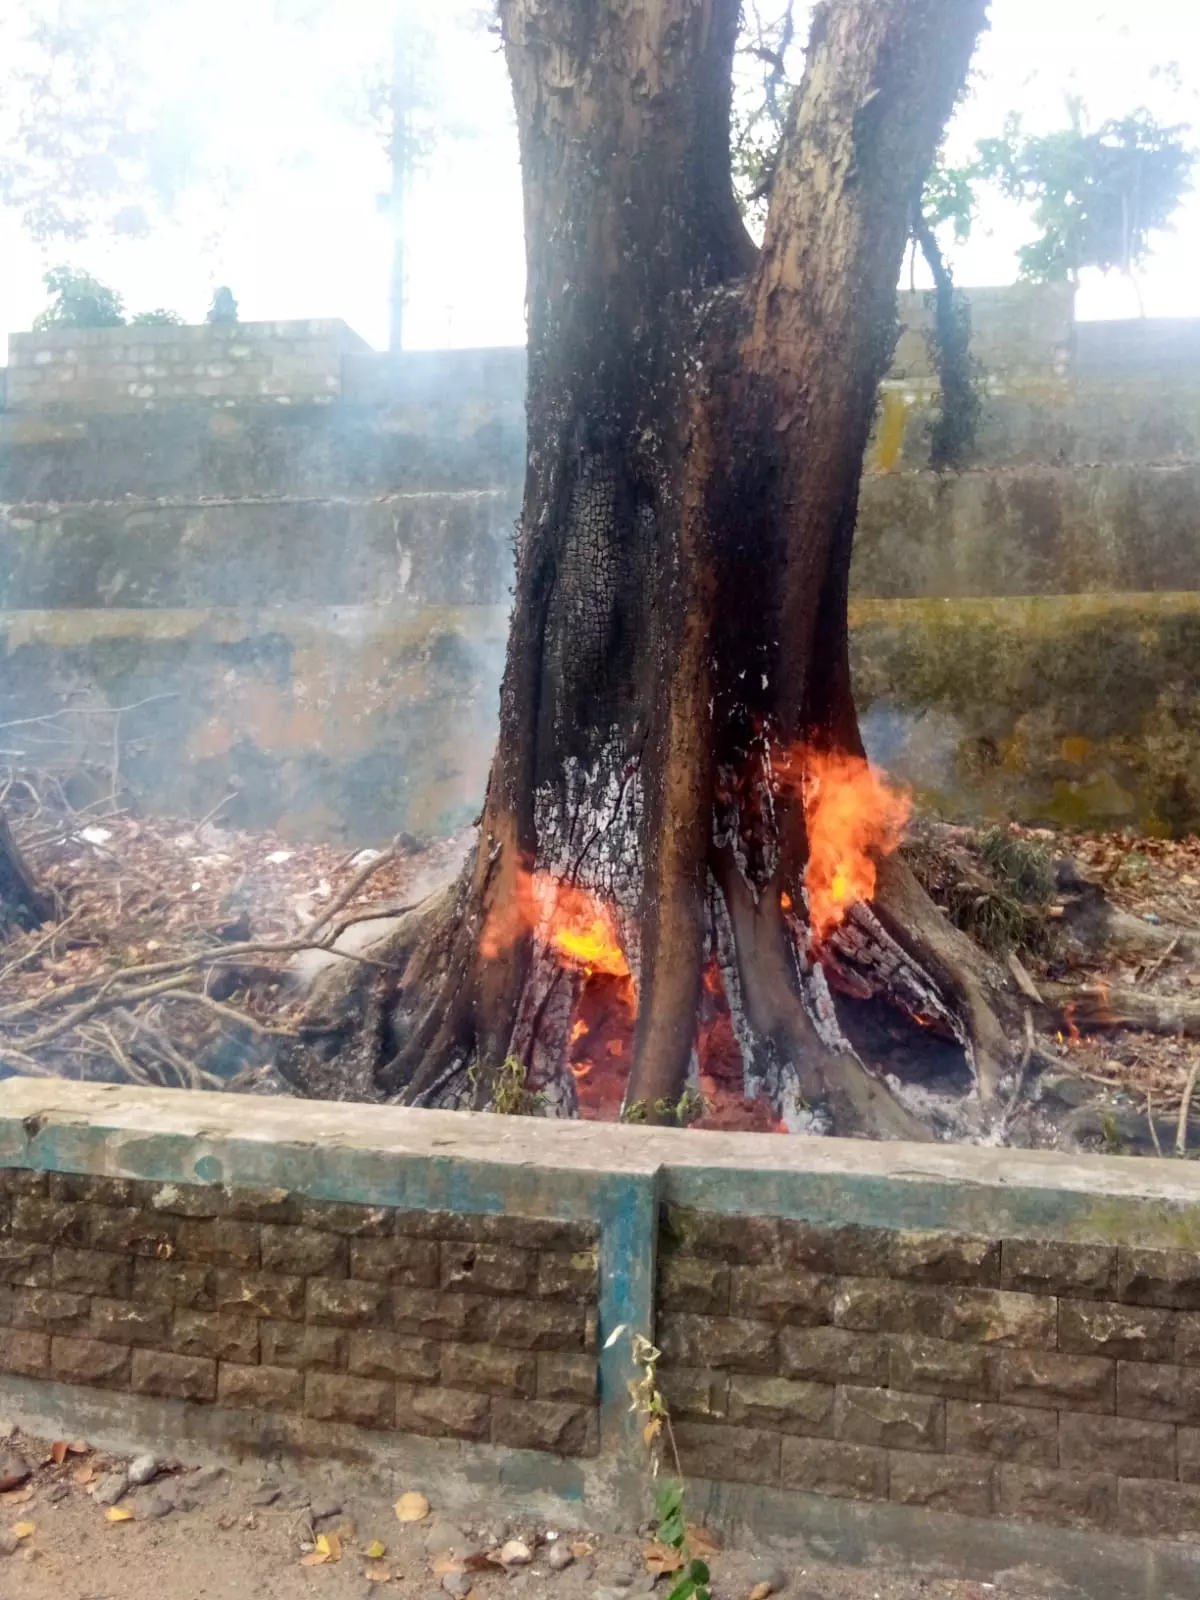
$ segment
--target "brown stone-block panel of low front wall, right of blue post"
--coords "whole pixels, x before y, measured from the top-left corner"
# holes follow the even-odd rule
[[[698,1478],[1200,1536],[1200,1254],[664,1214]]]

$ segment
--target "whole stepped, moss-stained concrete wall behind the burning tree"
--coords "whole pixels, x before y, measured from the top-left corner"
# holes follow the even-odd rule
[[[976,453],[938,475],[925,298],[901,320],[854,554],[872,750],[949,816],[1200,826],[1200,333],[974,293]],[[130,405],[126,330],[83,341],[86,386],[10,384],[0,720],[69,712],[94,746],[110,720],[80,706],[166,694],[122,714],[146,803],[205,811],[234,786],[227,814],[293,834],[446,826],[494,728],[523,352],[395,362],[312,328],[320,397],[250,398],[238,373]],[[18,370],[54,366],[38,352]]]

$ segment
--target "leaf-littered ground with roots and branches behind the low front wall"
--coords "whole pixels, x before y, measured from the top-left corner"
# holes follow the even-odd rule
[[[494,1096],[482,1085],[477,1093],[466,1053],[451,1053],[418,1078],[426,1059],[437,1058],[426,1056],[422,1040],[459,1027],[467,1037],[478,1005],[478,994],[466,992],[453,1018],[427,1006],[456,946],[462,957],[482,933],[459,918],[454,866],[466,835],[406,861],[382,861],[365,882],[341,851],[283,848],[269,835],[219,830],[200,845],[187,824],[110,818],[107,842],[85,845],[80,822],[72,834],[70,819],[54,829],[45,819],[14,821],[59,909],[56,922],[13,933],[0,946],[0,1072],[621,1114],[634,1043],[630,982],[589,979],[554,958],[542,963],[533,1003],[514,1021],[520,1078],[509,1074]],[[1170,1155],[1187,1101],[1184,1147],[1200,1150],[1200,1094],[1195,1085],[1187,1093],[1200,1059],[1200,846],[1008,835],[1045,858],[1032,894],[1021,862],[1006,861],[1006,877],[989,866],[987,835],[918,826],[914,843],[882,864],[875,904],[856,910],[838,933],[822,978],[810,976],[800,1005],[782,982],[786,971],[766,960],[770,941],[762,942],[758,928],[752,936],[736,890],[734,917],[710,907],[696,1058],[672,1115],[702,1128],[773,1130],[787,1112],[789,1125],[816,1131],[845,1126],[867,1104],[870,1115],[888,1120],[890,1136],[986,1134],[1149,1155],[1157,1138]],[[262,869],[280,856],[286,864]],[[421,896],[429,862],[437,864],[432,882],[448,885],[435,909]],[[205,880],[202,893],[192,891],[197,877]],[[331,888],[309,902],[301,890],[322,878]],[[258,898],[230,922],[227,902],[240,882],[256,882]],[[379,885],[386,901],[371,904]],[[938,912],[973,936],[949,928]],[[371,941],[381,917],[390,931]],[[734,920],[752,952],[741,968]],[[931,936],[917,947],[912,930],[926,928]],[[997,930],[1013,941],[997,941]],[[352,947],[334,955],[333,946],[347,941]],[[291,968],[309,960],[325,965],[306,992],[294,987]],[[504,962],[493,966],[504,973]],[[1014,966],[1024,986],[1013,979]],[[992,1069],[1000,1048],[992,1045],[989,1061],[982,1030],[965,1027],[976,997],[1002,1029],[1008,1058],[1000,1072]],[[850,1051],[806,1048],[829,1010]],[[1022,1069],[1027,1016],[1035,1040]],[[557,1054],[552,1045],[562,1034],[568,1045]],[[987,1114],[966,1043],[976,1072],[992,1070]],[[827,1059],[840,1072],[832,1088]],[[894,1093],[882,1093],[883,1085]]]

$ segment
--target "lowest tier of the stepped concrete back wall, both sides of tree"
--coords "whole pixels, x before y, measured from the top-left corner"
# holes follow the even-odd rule
[[[107,792],[98,712],[134,707],[122,779],[146,803],[237,790],[232,822],[296,838],[453,830],[486,782],[507,610],[435,605],[443,578],[413,566],[424,605],[0,613],[5,720],[54,718],[14,747]],[[923,806],[1200,826],[1200,595],[856,600],[851,648],[867,746]]]

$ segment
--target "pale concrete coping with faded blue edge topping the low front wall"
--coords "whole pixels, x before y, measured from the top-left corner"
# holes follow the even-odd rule
[[[1189,1162],[699,1134],[58,1078],[0,1082],[3,1166],[574,1221],[597,1218],[597,1184],[611,1178],[654,1181],[664,1202],[725,1216],[1200,1250],[1200,1168]]]

